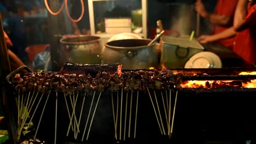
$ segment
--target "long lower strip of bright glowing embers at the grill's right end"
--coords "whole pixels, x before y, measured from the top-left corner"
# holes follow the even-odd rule
[[[183,88],[256,88],[256,80],[251,81],[185,81],[181,83]]]

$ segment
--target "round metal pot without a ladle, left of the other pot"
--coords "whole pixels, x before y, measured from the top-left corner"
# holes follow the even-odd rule
[[[89,35],[62,38],[60,40],[70,62],[100,64],[102,60],[101,38]]]

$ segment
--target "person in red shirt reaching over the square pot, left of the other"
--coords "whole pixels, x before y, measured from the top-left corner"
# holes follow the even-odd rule
[[[225,31],[226,29],[232,27],[236,4],[238,0],[219,0],[214,13],[208,13],[205,9],[205,6],[201,0],[196,0],[195,10],[199,13],[200,16],[206,18],[212,24],[212,33],[211,35],[201,35],[198,40],[200,43],[210,43],[217,42],[229,47],[232,49],[235,37],[226,38],[226,39],[214,39],[212,37],[214,34],[219,34]]]

